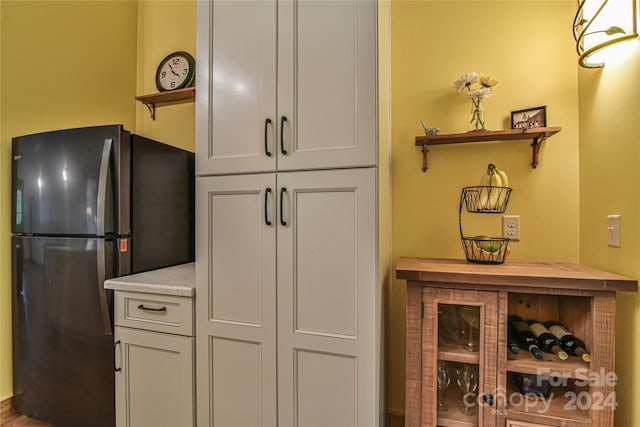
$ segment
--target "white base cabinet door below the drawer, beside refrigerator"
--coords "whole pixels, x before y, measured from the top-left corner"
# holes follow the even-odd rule
[[[193,338],[115,327],[116,424],[195,426]]]

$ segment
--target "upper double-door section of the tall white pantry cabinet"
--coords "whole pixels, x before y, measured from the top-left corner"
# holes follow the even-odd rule
[[[198,2],[196,174],[374,166],[376,3]]]

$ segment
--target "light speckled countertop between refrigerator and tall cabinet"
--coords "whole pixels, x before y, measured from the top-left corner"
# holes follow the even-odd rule
[[[193,297],[196,294],[195,263],[105,280],[105,289]]]

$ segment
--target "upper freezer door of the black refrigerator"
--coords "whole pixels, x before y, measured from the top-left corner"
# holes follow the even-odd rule
[[[13,138],[12,231],[117,233],[120,125]],[[128,169],[128,168],[127,168]]]

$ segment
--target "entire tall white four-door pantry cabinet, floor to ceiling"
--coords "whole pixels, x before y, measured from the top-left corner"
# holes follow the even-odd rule
[[[199,426],[380,423],[376,6],[198,2]]]

